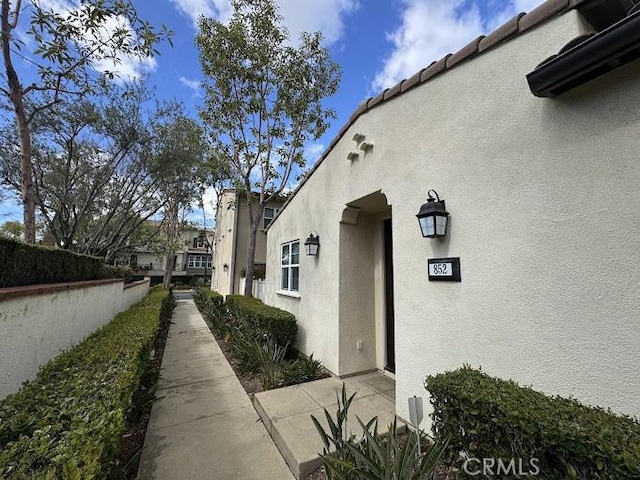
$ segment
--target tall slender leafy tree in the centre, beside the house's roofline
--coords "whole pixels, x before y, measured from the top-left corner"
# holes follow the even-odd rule
[[[294,170],[304,168],[304,144],[319,138],[335,117],[322,100],[336,93],[340,69],[320,33],[302,34],[297,46],[289,41],[273,0],[232,4],[228,25],[204,17],[198,22],[205,75],[200,115],[216,155],[247,194],[250,296],[264,206],[278,198]]]

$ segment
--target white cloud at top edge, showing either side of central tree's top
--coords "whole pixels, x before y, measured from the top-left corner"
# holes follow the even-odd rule
[[[200,15],[227,22],[233,9],[229,0],[171,0],[175,8],[197,24]],[[292,41],[301,32],[322,32],[326,45],[338,41],[344,16],[358,9],[358,0],[276,0]]]

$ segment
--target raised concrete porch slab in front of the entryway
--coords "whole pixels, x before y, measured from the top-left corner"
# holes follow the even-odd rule
[[[324,378],[253,397],[262,422],[298,479],[322,464],[322,440],[311,415],[328,430],[324,409],[335,419],[343,383],[348,396],[356,393],[349,409],[348,431],[360,438],[362,429],[357,418],[366,423],[377,416],[379,431],[386,432],[395,416],[395,381],[379,372],[344,379]]]

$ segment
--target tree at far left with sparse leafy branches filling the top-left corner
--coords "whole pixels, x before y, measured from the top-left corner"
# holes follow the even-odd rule
[[[35,42],[33,56],[21,50],[22,41],[16,33],[20,30]],[[5,67],[0,92],[9,100],[15,117],[25,240],[34,243],[31,128],[35,116],[66,96],[81,97],[105,86],[116,74],[98,73],[99,66],[113,64],[115,70],[123,55],[142,58],[156,54],[155,45],[170,39],[171,32],[165,27],[155,29],[140,19],[129,0],[2,0],[0,31]],[[20,66],[29,68],[25,61],[37,68],[38,81],[29,85],[22,80],[26,72],[18,71]],[[34,96],[39,101],[27,108],[27,98]]]

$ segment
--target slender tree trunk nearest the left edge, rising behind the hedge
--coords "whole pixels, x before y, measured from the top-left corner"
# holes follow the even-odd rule
[[[27,115],[24,110],[24,98],[22,85],[18,79],[18,74],[13,67],[11,59],[11,29],[9,22],[10,1],[2,0],[1,27],[2,27],[2,57],[4,60],[9,87],[9,97],[16,115],[16,126],[20,135],[20,169],[21,169],[21,190],[22,208],[24,223],[24,239],[28,243],[36,242],[36,204],[33,191],[33,173],[31,167],[31,132],[27,123]],[[19,12],[18,12],[19,13]]]

